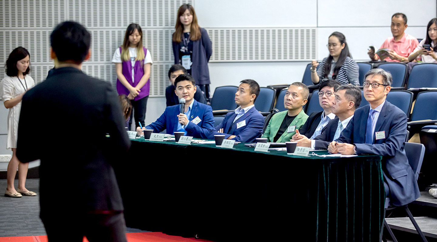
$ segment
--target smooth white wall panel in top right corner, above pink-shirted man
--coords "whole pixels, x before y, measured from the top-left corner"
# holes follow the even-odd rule
[[[410,26],[426,26],[436,17],[435,0],[319,0],[318,26],[390,26],[393,13],[404,13]]]

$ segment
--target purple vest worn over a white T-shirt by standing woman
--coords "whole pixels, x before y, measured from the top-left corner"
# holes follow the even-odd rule
[[[144,57],[146,57],[147,49],[145,47],[142,47],[144,50]],[[121,47],[120,47],[120,54],[121,54]],[[128,80],[129,84],[132,85],[132,87],[135,87],[138,85],[139,81],[141,80],[141,77],[144,75],[144,60],[142,61],[135,61],[134,66],[134,81],[132,83],[132,64],[131,61],[123,61],[121,63],[122,65],[122,71],[121,73],[123,76],[125,76],[126,80]],[[150,91],[150,78],[147,80],[146,84],[144,84],[143,87],[140,89],[138,96],[134,98],[134,101],[138,101],[143,97],[147,97],[149,95]],[[126,96],[129,94],[129,90],[121,84],[120,80],[117,78],[117,92],[118,95],[125,94]]]

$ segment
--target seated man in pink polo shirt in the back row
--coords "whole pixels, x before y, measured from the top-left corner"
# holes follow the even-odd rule
[[[417,41],[415,37],[404,33],[407,26],[407,17],[405,14],[393,14],[391,25],[393,37],[388,37],[381,47],[379,47],[379,49],[387,48],[389,50],[389,57],[385,58],[385,61],[407,61],[409,54],[411,54],[419,44],[419,41]],[[380,59],[374,50],[369,50],[367,54],[369,54],[372,61]]]

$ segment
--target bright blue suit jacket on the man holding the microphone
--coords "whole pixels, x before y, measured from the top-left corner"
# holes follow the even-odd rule
[[[193,100],[193,107],[191,109],[190,117],[188,117],[187,136],[194,138],[208,138],[209,132],[214,128],[214,117],[212,116],[212,108],[209,105],[199,103]],[[156,119],[155,122],[146,126],[146,129],[153,129],[153,132],[159,133],[167,129],[167,134],[173,134],[177,131],[177,115],[179,112],[179,104],[166,107],[164,113]],[[199,117],[201,121],[194,124],[192,120]]]

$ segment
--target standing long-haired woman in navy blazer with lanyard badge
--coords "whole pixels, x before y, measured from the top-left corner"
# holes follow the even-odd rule
[[[212,43],[205,29],[199,27],[193,6],[184,4],[177,11],[173,33],[174,64],[181,64],[209,99],[208,61]]]

